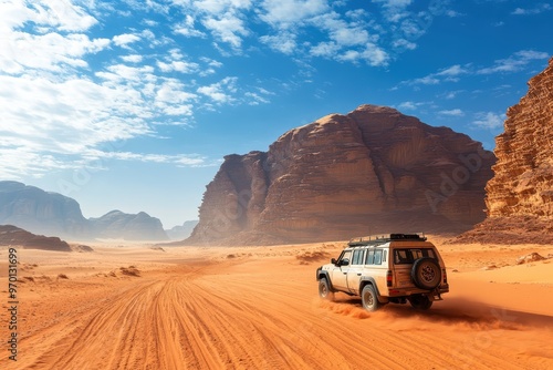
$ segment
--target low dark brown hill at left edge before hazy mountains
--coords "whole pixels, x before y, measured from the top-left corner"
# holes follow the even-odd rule
[[[0,225],[0,246],[22,246],[24,248],[71,251],[67,243],[59,237],[34,235],[13,225]]]

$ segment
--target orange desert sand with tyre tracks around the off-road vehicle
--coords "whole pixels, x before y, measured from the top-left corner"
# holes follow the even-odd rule
[[[317,297],[343,243],[274,247],[18,248],[9,360],[0,249],[0,369],[553,369],[553,246],[446,245],[451,292],[427,312]]]

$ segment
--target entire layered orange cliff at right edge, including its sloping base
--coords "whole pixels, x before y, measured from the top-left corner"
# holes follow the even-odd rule
[[[553,58],[495,137],[488,218],[458,241],[553,243]]]

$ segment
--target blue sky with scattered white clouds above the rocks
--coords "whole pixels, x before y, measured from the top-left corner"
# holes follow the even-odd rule
[[[361,104],[494,146],[552,1],[0,2],[0,179],[197,218],[222,157]]]

